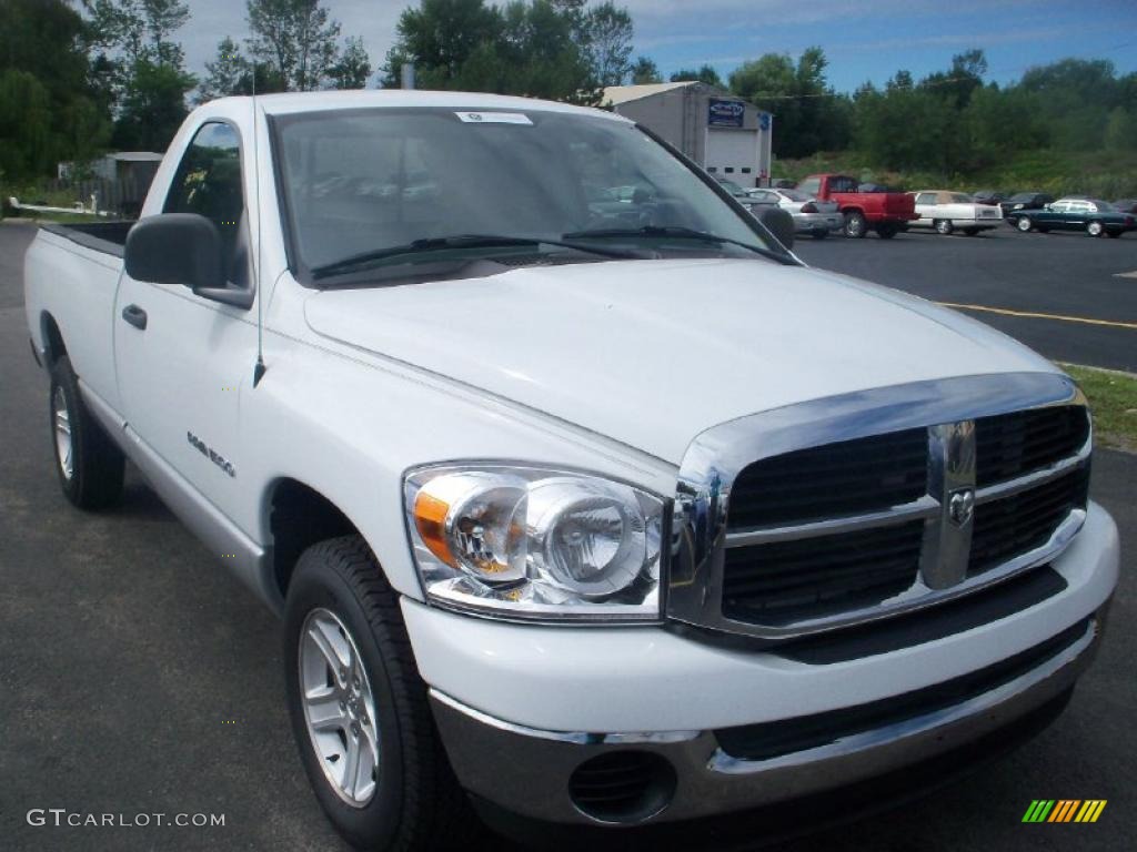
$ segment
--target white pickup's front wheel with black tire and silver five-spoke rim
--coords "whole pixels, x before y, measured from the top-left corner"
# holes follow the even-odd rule
[[[285,604],[284,666],[300,760],[349,843],[468,842],[476,821],[434,727],[398,594],[360,536],[301,554]]]

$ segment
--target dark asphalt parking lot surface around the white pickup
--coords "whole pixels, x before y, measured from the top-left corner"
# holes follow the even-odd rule
[[[59,494],[47,382],[22,307],[31,236],[0,225],[0,849],[347,850],[296,754],[273,617],[133,471],[107,513],[82,513]],[[799,253],[939,301],[1122,324],[972,310],[1051,357],[1137,368],[1137,278],[1115,277],[1137,270],[1137,235],[905,234],[804,240]],[[1093,495],[1130,554],[1135,494],[1137,456],[1098,453]],[[965,783],[777,849],[1132,849],[1137,580],[1127,562],[1098,660],[1053,727]],[[1109,804],[1094,825],[1022,825],[1032,799]],[[33,808],[224,813],[225,825],[33,827]]]

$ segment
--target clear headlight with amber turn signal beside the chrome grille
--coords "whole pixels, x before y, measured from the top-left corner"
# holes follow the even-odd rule
[[[406,479],[407,528],[438,603],[522,618],[659,617],[664,503],[567,470],[446,465]]]

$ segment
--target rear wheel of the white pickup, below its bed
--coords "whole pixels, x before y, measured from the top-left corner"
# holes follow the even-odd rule
[[[51,365],[51,445],[59,486],[80,509],[103,509],[123,494],[126,460],[88,411],[67,356]]]

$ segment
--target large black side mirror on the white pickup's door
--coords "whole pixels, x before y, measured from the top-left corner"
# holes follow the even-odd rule
[[[198,214],[160,214],[138,222],[126,235],[126,274],[135,281],[181,284],[194,293],[248,309],[252,287],[225,284],[225,248],[217,226]]]

